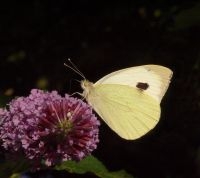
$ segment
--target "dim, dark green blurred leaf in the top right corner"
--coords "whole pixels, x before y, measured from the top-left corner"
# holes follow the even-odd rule
[[[174,25],[174,30],[181,30],[200,25],[200,3],[190,9],[180,11],[175,17]]]

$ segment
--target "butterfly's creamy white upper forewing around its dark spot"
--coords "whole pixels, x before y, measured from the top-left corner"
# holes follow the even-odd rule
[[[98,80],[94,86],[101,84],[120,84],[137,88],[138,83],[145,83],[148,88],[144,93],[162,100],[172,77],[172,71],[160,65],[143,65],[112,72]]]

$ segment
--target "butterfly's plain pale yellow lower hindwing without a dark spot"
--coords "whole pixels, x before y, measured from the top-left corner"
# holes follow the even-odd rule
[[[160,118],[159,102],[130,86],[98,85],[90,91],[87,101],[112,130],[128,140],[143,136]]]

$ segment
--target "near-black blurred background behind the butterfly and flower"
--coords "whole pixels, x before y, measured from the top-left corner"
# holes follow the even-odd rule
[[[174,76],[159,124],[126,141],[103,122],[94,155],[137,178],[200,177],[200,3],[178,0],[3,1],[0,3],[1,105],[32,88],[81,92],[125,67],[159,64]],[[56,177],[65,177],[64,174]]]

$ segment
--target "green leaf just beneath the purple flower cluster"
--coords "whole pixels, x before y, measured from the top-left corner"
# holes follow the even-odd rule
[[[93,173],[102,178],[133,178],[132,175],[124,170],[109,172],[103,163],[93,156],[88,156],[80,162],[65,161],[61,165],[56,166],[56,169],[76,174]]]

